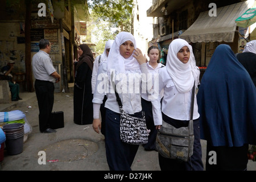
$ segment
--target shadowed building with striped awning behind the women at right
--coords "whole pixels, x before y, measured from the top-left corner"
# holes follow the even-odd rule
[[[229,44],[236,53],[241,51],[242,41],[254,39],[253,26],[241,28],[235,22],[254,2],[154,0],[147,10],[147,16],[157,17],[151,43],[158,43],[165,59],[172,40],[187,40],[193,47],[197,66],[204,71],[219,44]],[[243,34],[245,30],[247,35]]]

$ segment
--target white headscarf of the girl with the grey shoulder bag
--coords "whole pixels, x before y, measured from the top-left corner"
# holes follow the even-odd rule
[[[177,53],[181,48],[187,46],[190,51],[188,63],[184,64],[177,58]],[[199,84],[200,71],[196,67],[195,56],[193,55],[192,47],[183,39],[175,39],[171,42],[168,48],[167,72],[171,76],[174,84],[180,93],[188,92],[192,89],[194,81]]]

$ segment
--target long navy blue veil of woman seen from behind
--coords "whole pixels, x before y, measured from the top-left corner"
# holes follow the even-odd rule
[[[212,146],[256,144],[256,88],[230,46],[221,44],[214,51],[197,103],[201,139]]]

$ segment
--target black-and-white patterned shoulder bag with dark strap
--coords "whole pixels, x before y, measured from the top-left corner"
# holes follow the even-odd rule
[[[129,144],[146,144],[148,142],[148,133],[144,111],[134,115],[125,113],[125,111],[123,111],[121,98],[119,97],[116,90],[115,96],[117,97],[117,102],[121,114],[120,138],[122,142]]]

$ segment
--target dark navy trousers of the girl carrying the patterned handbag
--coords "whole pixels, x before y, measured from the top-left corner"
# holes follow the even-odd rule
[[[139,145],[127,144],[120,139],[120,114],[106,108],[106,158],[112,171],[131,171],[131,164]]]

